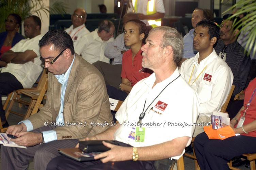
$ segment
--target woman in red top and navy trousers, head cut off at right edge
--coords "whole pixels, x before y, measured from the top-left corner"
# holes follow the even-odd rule
[[[245,90],[243,107],[230,120],[230,126],[238,136],[224,140],[209,139],[205,132],[196,136],[194,150],[201,170],[227,169],[227,162],[236,156],[256,153],[256,78]],[[244,122],[242,123],[242,119]],[[241,125],[237,127],[238,124]]]

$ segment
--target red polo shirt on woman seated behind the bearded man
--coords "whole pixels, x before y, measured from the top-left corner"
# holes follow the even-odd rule
[[[132,65],[132,52],[131,49],[123,54],[122,58],[122,72],[121,77],[128,79],[133,87],[138,81],[147,78],[153,73],[152,70],[143,68],[142,63],[142,51],[140,50],[133,58]]]

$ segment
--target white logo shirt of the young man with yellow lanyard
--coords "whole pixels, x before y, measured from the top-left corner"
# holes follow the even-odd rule
[[[198,64],[199,52],[184,61],[180,67],[180,74],[186,82],[197,91],[200,99],[200,115],[210,117],[212,111],[220,111],[225,103],[233,83],[233,73],[213,49],[212,53]]]

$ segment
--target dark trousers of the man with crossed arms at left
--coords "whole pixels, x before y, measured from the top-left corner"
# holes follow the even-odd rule
[[[14,75],[8,72],[0,73],[0,117],[5,121],[5,112],[3,110],[2,95],[8,95],[10,92],[23,88],[22,84]]]

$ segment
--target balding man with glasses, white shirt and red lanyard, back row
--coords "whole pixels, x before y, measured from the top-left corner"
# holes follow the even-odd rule
[[[83,8],[77,8],[73,15],[71,16],[72,25],[65,31],[70,35],[73,40],[75,52],[81,54],[82,49],[76,49],[77,44],[82,36],[90,33],[89,30],[85,28],[87,13]]]

